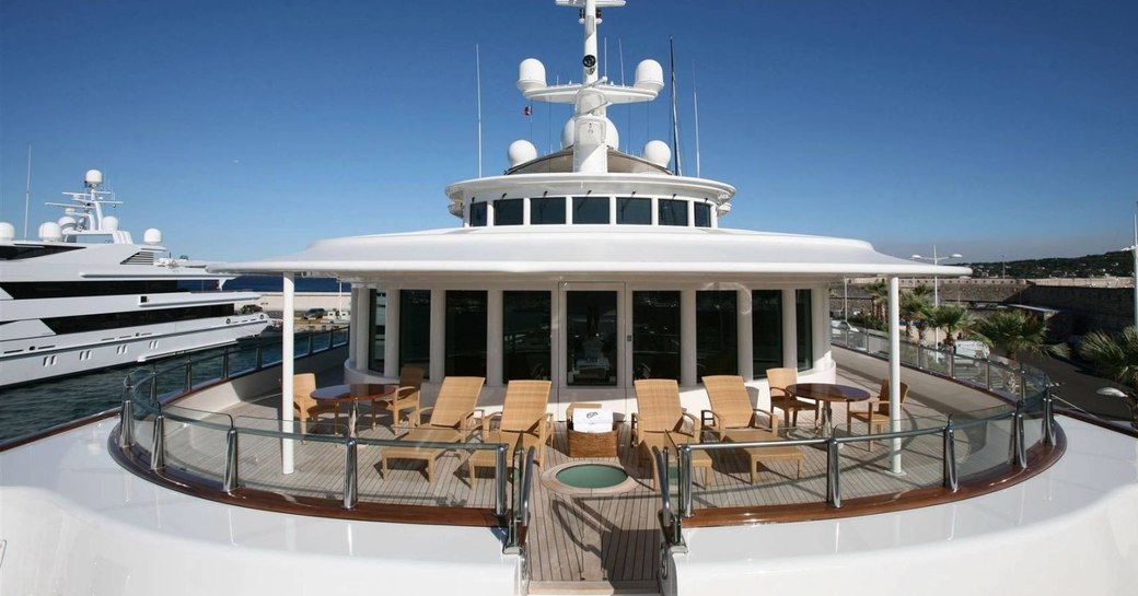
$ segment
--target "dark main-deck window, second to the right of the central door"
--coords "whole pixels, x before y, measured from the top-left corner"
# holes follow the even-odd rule
[[[695,292],[695,370],[704,374],[737,374],[737,296],[734,290]]]

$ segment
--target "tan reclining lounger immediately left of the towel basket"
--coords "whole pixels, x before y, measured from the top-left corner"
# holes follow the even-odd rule
[[[502,412],[483,417],[483,442],[504,442],[508,467],[512,465],[513,452],[519,445],[523,450],[535,447],[534,462],[539,464],[544,461],[545,444],[553,434],[553,415],[547,412],[552,384],[550,381],[510,381]],[[489,449],[470,454],[467,461],[470,486],[475,486],[476,467],[494,467],[496,464],[495,452]]]

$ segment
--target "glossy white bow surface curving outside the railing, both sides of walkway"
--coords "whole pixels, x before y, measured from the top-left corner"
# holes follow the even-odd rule
[[[1066,455],[1011,489],[887,515],[685,532],[679,594],[1135,594],[1138,441],[1061,419]],[[489,530],[187,497],[119,469],[115,421],[0,454],[2,594],[513,594]]]

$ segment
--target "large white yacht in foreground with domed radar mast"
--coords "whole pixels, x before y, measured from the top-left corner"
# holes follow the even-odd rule
[[[156,397],[154,376],[132,375],[119,416],[0,448],[0,589],[1133,594],[1136,437],[1057,415],[1048,384],[1020,370],[965,356],[912,367],[912,355],[943,361],[902,350],[899,279],[967,268],[857,240],[723,227],[732,201],[747,199],[734,188],[673,172],[662,142],[619,151],[607,110],[654,99],[662,68],[642,61],[629,86],[604,80],[600,10],[609,17],[624,0],[555,5],[584,28],[580,82],[550,85],[529,58],[517,84],[574,107],[561,150],[541,156],[519,141],[504,174],[447,187],[453,229],[211,266],[281,275],[286,305],[297,276],[351,283],[346,356],[286,358],[178,396]],[[828,284],[853,275],[888,279],[891,331],[882,341],[839,330],[850,349],[831,343],[827,305]],[[296,350],[292,324],[284,354]],[[329,365],[358,383],[421,367],[420,406],[448,376],[484,378],[487,428],[510,381],[547,380],[556,422],[541,470],[533,452],[511,456],[483,431],[412,445],[388,419],[343,429],[329,416],[315,432],[294,420],[294,372]],[[819,432],[803,412],[775,440],[630,445],[637,380],[675,380],[700,413],[706,376],[739,376],[749,405],[769,409],[768,369],[874,392],[884,380],[888,424]],[[913,394],[904,404],[902,388]],[[567,447],[567,409],[584,404],[613,414],[604,440],[617,456]],[[426,456],[427,477],[414,461],[389,469],[393,449]],[[492,475],[473,467],[485,450]],[[792,461],[764,460],[772,453],[797,457],[797,474]],[[624,479],[562,479],[582,464]]]

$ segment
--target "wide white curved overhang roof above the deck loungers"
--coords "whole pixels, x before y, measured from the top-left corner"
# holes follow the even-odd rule
[[[459,227],[320,240],[294,255],[212,265],[216,273],[388,276],[959,276],[968,267],[883,255],[868,242],[728,229],[542,225]]]

